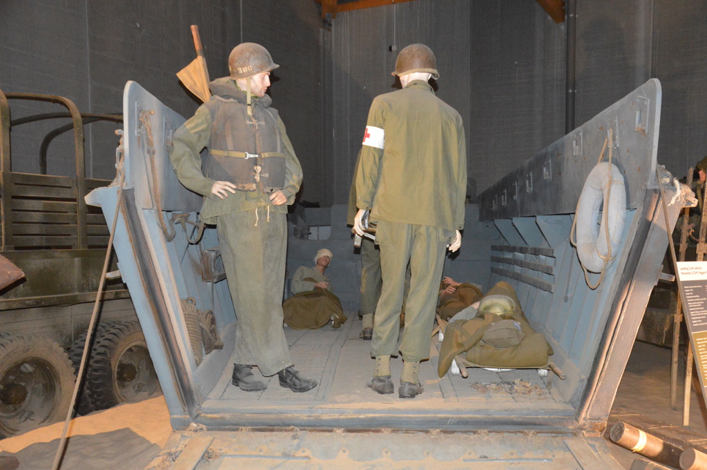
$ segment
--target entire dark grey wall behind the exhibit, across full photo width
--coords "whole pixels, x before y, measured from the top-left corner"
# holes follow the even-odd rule
[[[416,0],[340,13],[322,27],[314,0],[26,0],[0,2],[0,90],[62,95],[84,112],[122,110],[138,81],[188,117],[198,106],[176,71],[199,25],[211,78],[239,42],[260,42],[281,68],[271,96],[305,173],[301,199],[345,203],[370,100],[395,89],[402,47],[436,52],[438,96],[462,114],[469,194],[481,192],[564,131],[565,23],[534,0]],[[659,163],[684,175],[707,154],[707,1],[593,0],[577,9],[575,124],[651,76],[663,89]],[[12,102],[16,119],[58,110]],[[64,124],[65,122],[62,122]],[[39,122],[12,133],[13,170],[38,171]],[[86,134],[90,177],[114,175],[115,124]],[[70,175],[71,136],[48,172]]]

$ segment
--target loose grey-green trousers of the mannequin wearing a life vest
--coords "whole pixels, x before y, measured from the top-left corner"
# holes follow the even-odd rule
[[[286,214],[259,207],[218,216],[216,232],[235,307],[233,360],[275,375],[292,365],[282,327]]]

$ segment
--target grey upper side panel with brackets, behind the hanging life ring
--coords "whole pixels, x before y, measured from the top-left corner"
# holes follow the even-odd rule
[[[640,112],[636,114],[637,111]],[[653,123],[659,122],[659,112],[660,82],[650,79],[481,192],[478,199],[479,218],[489,220],[573,213],[579,189],[596,165],[609,132],[613,134],[611,150],[614,164],[626,180],[626,207],[640,206],[644,199],[643,192],[653,187],[650,180],[655,180],[652,171],[655,168],[658,126]],[[636,127],[638,131],[634,130]],[[643,127],[645,132],[641,132]],[[530,172],[534,173],[532,192]],[[514,182],[520,186],[524,180],[526,190],[519,188],[518,201],[511,200],[508,204],[503,192],[508,195],[513,191]],[[491,201],[496,194],[502,204],[492,212]]]

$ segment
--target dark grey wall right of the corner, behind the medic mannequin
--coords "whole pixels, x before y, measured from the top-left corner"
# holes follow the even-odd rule
[[[684,175],[707,155],[707,1],[577,3],[575,127],[660,78],[658,162]],[[565,134],[565,41],[566,25],[530,0],[417,0],[340,14],[325,42],[325,153],[338,168],[327,168],[322,200],[346,201],[370,100],[394,83],[389,45],[426,42],[436,52],[438,95],[466,124],[473,194]]]

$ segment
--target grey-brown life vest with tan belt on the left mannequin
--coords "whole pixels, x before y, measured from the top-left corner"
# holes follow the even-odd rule
[[[285,184],[285,154],[277,110],[214,98],[205,103],[211,113],[211,142],[204,162],[206,177],[235,184],[239,191],[271,193]]]

